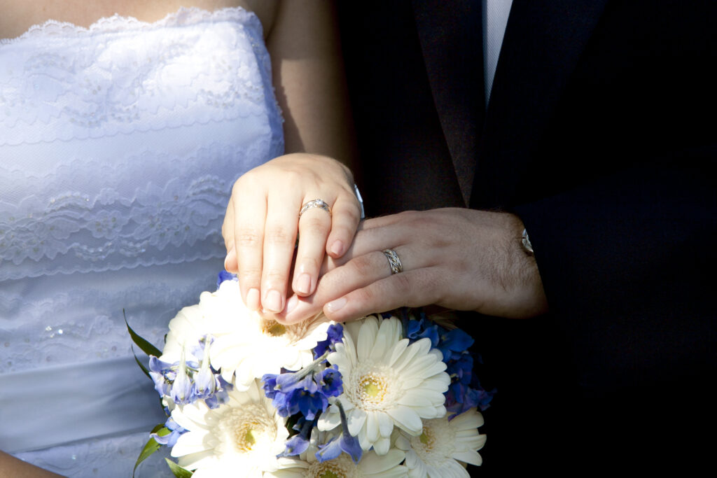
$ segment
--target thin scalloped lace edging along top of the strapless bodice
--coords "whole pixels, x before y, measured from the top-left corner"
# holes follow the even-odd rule
[[[27,32],[15,38],[0,39],[0,47],[5,44],[21,42],[24,39],[42,37],[63,37],[74,35],[92,36],[98,33],[116,33],[138,31],[146,29],[160,29],[166,27],[186,27],[204,23],[207,21],[236,21],[237,23],[249,25],[255,29],[260,37],[264,37],[262,23],[253,11],[246,10],[242,6],[227,7],[209,11],[196,6],[180,6],[179,10],[167,14],[163,19],[157,21],[140,21],[133,16],[105,16],[98,19],[90,27],[80,27],[69,21],[47,20],[44,24],[37,24],[29,27]]]

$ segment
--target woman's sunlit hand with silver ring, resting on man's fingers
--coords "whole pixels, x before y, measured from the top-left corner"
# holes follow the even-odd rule
[[[299,211],[320,199],[331,208]],[[239,276],[242,298],[252,310],[284,310],[299,234],[291,288],[313,294],[324,253],[341,257],[353,241],[361,206],[351,171],[326,156],[295,153],[269,161],[234,183],[224,216],[224,267]]]

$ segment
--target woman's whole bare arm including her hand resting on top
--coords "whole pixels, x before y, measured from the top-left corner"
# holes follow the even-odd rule
[[[244,302],[280,312],[291,290],[313,293],[325,253],[346,252],[360,206],[349,169],[356,155],[333,2],[281,2],[266,42],[286,152],[302,154],[282,156],[239,178],[222,233],[225,266],[239,271]],[[326,201],[331,215],[309,209],[299,221],[302,204],[313,199]]]

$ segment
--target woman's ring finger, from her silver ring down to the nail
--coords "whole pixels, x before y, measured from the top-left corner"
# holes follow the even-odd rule
[[[299,218],[299,246],[296,252],[292,289],[297,295],[313,294],[323,261],[331,213],[321,207],[306,209]]]

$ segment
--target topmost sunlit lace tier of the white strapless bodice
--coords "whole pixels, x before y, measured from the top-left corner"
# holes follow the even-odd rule
[[[0,45],[0,65],[0,128],[15,128],[0,145],[280,115],[261,23],[241,8],[48,21]]]

